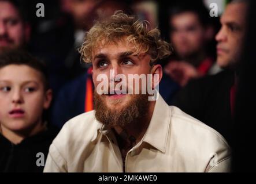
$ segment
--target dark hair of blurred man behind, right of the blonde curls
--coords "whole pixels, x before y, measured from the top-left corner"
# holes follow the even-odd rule
[[[207,26],[210,24],[209,11],[202,2],[191,3],[191,1],[181,1],[175,3],[175,5],[169,9],[169,18],[185,12],[195,13],[198,16],[198,20],[202,26]]]

